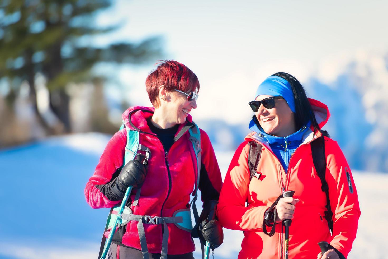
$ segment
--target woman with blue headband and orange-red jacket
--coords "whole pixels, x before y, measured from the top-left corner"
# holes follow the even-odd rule
[[[236,150],[217,207],[223,227],[244,231],[238,258],[346,258],[360,207],[345,156],[320,130],[327,106],[283,72],[266,78],[254,100],[253,132]],[[323,255],[321,241],[329,243]]]

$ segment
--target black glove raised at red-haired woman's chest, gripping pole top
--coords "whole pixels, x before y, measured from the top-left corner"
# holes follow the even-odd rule
[[[116,181],[120,191],[125,192],[130,185],[133,189],[141,188],[147,175],[147,164],[143,164],[144,159],[144,155],[137,154],[135,160],[131,160],[124,165]]]

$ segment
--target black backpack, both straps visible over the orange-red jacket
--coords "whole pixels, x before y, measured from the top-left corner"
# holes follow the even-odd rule
[[[319,130],[322,133],[322,137],[318,137],[314,139],[311,145],[311,152],[315,170],[319,176],[319,179],[322,183],[322,191],[326,193],[326,211],[325,211],[325,219],[327,221],[327,225],[331,233],[333,233],[333,212],[330,207],[330,199],[329,199],[329,186],[326,182],[326,155],[325,155],[325,140],[324,137],[330,137],[329,133],[326,130]],[[260,156],[262,153],[262,144],[257,143],[255,141],[249,141],[249,153],[248,153],[248,167],[250,171],[251,181],[252,177],[259,178],[260,174],[256,172],[257,165],[260,160]]]

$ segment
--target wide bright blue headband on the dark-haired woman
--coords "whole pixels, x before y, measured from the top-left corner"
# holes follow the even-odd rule
[[[290,83],[280,76],[268,76],[257,88],[256,97],[259,95],[281,96],[288,103],[291,111],[295,112],[294,94]]]

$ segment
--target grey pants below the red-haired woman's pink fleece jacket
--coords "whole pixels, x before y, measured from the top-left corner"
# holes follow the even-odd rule
[[[143,259],[143,254],[140,250],[112,243],[106,259]],[[160,254],[149,253],[149,259],[160,259]],[[167,259],[194,259],[194,257],[193,253],[190,252],[187,254],[169,254],[167,255]]]

